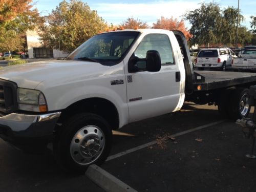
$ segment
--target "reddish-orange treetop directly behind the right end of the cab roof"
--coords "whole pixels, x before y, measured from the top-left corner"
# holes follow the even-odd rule
[[[181,20],[179,22],[177,18],[174,19],[173,17],[165,18],[162,16],[161,19],[157,20],[157,23],[153,23],[152,28],[182,31],[187,40],[189,40],[192,37],[192,35],[189,33],[189,31],[185,27],[184,20]]]

